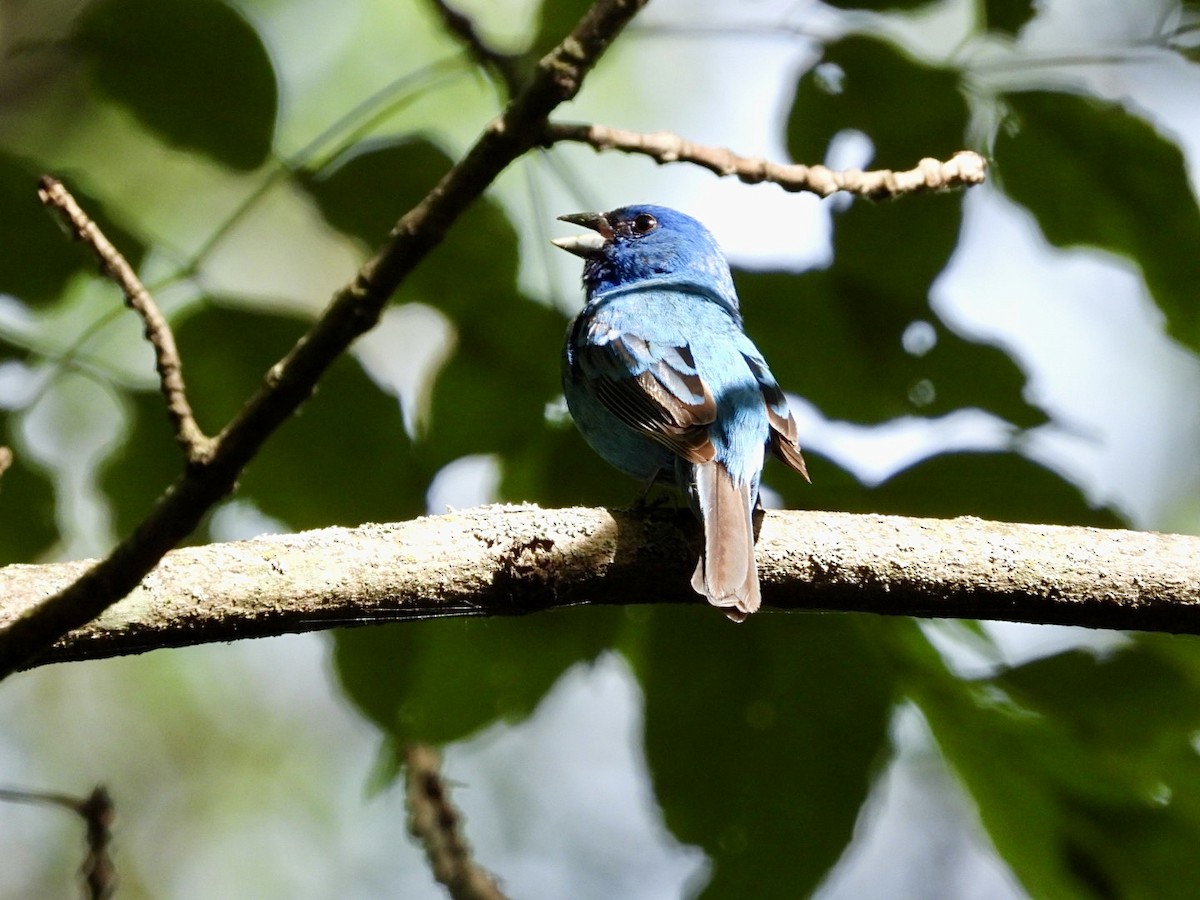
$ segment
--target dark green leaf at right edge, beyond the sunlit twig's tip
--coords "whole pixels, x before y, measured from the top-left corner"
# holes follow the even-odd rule
[[[1004,100],[1015,122],[996,139],[1004,192],[1050,242],[1139,265],[1170,332],[1200,350],[1200,206],[1180,148],[1116,103],[1049,91]]]

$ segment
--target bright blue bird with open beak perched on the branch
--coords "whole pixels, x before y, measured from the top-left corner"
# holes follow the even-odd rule
[[[584,440],[641,481],[677,487],[704,542],[691,586],[728,618],[758,610],[754,516],[769,450],[809,480],[796,420],[746,336],[728,262],[698,221],[641,204],[559,221],[583,258],[563,395]]]

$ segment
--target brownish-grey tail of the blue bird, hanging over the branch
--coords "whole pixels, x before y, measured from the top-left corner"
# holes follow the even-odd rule
[[[704,523],[704,553],[691,586],[734,622],[761,602],[754,563],[754,500],[750,485],[736,485],[720,462],[695,467],[696,502]]]

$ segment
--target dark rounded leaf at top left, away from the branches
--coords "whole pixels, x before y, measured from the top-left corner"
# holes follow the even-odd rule
[[[271,150],[278,91],[270,56],[217,0],[101,0],[76,44],[97,86],[164,140],[235,169]]]

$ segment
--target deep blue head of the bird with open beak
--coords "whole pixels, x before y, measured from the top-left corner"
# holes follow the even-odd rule
[[[553,241],[583,257],[583,284],[590,296],[652,282],[695,287],[737,310],[725,254],[691,216],[666,206],[636,205],[559,220],[593,232]]]

